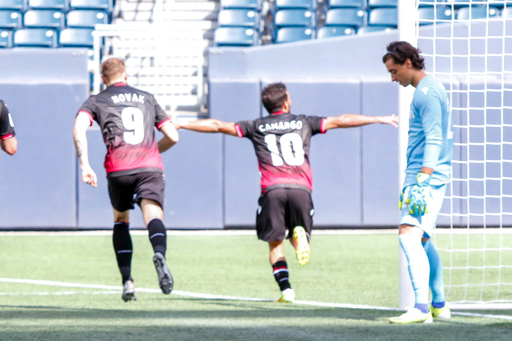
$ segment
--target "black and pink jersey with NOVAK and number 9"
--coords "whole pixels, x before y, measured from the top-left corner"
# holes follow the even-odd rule
[[[163,171],[154,127],[159,129],[169,118],[153,95],[115,83],[89,97],[80,112],[100,126],[108,176]]]

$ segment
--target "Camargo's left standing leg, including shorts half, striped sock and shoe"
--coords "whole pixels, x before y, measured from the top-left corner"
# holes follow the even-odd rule
[[[288,264],[284,255],[286,191],[274,189],[262,193],[258,200],[256,232],[269,244],[269,260],[276,283],[281,290],[279,302],[293,302],[295,292],[289,281]]]

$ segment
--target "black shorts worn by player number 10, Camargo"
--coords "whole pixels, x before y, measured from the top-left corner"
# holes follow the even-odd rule
[[[311,236],[313,202],[308,191],[295,188],[276,188],[262,193],[258,200],[256,232],[258,239],[272,242],[292,238],[293,228],[302,226]],[[286,230],[288,235],[286,236]]]

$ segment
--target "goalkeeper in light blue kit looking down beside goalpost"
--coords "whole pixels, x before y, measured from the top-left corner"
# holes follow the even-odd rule
[[[406,178],[399,201],[399,241],[409,264],[416,303],[406,313],[391,317],[390,322],[449,319],[441,259],[430,241],[451,176],[453,125],[449,100],[444,86],[425,74],[423,57],[410,43],[390,43],[382,61],[392,81],[416,88],[409,116]]]

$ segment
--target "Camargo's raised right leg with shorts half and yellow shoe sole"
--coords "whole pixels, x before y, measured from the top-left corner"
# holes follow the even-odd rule
[[[287,189],[286,226],[290,232],[288,238],[295,247],[297,262],[306,265],[311,256],[309,242],[313,228],[313,202],[311,194],[301,189]]]

